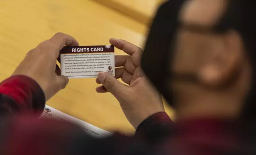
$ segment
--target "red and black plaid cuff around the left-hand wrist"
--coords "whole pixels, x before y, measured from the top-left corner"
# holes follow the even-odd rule
[[[30,77],[12,76],[0,83],[0,114],[41,113],[45,95],[39,84]]]

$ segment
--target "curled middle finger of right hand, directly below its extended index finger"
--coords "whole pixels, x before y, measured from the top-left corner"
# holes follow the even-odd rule
[[[130,74],[134,74],[136,66],[133,63],[132,57],[130,55],[116,55],[115,56],[115,66],[125,67],[126,71]]]

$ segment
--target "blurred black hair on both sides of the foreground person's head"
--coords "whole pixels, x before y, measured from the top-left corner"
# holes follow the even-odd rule
[[[155,87],[162,93],[171,106],[175,95],[169,88],[166,78],[173,53],[170,44],[178,26],[178,12],[185,0],[169,0],[163,4],[154,18],[142,56],[142,69]],[[217,32],[235,30],[242,37],[244,47],[250,57],[253,69],[251,90],[246,100],[242,116],[246,119],[256,118],[256,22],[252,15],[256,11],[256,0],[227,0],[227,8],[219,22],[214,26]],[[156,54],[157,53],[157,54]],[[170,75],[173,76],[173,75]],[[255,97],[254,97],[255,96]],[[255,99],[254,99],[255,98]]]

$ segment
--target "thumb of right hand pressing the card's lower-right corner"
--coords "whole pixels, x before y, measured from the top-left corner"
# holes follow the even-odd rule
[[[114,76],[106,72],[99,72],[98,79],[101,84],[116,98],[128,89],[127,86],[123,85]]]

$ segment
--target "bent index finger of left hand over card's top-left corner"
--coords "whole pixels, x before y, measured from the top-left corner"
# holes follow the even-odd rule
[[[56,33],[49,42],[60,51],[65,45],[67,46],[78,46],[79,43],[76,39],[68,34]]]

